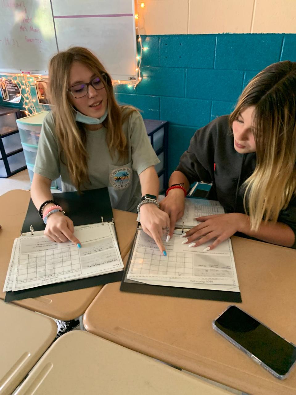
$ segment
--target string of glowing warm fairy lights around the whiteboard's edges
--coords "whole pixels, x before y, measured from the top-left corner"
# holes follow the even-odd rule
[[[147,51],[148,47],[145,45],[142,45],[142,38],[140,34],[140,28],[139,28],[139,8],[144,8],[145,3],[144,2],[139,2],[137,0],[137,13],[135,13],[135,21],[136,21],[136,32],[138,36],[138,43],[139,43],[139,53],[137,53],[136,56],[136,64],[137,68],[135,69],[137,80],[135,84],[128,83],[127,86],[129,88],[136,88],[139,82],[141,82],[142,77],[141,77],[141,61],[142,61],[142,53],[143,51]],[[26,115],[34,115],[37,113],[35,103],[36,99],[32,97],[32,85],[36,84],[37,80],[42,80],[44,76],[41,75],[30,75],[30,74],[7,74],[5,77],[0,77],[0,81],[4,81],[6,79],[12,80],[17,86],[19,87],[20,90],[20,96],[23,100],[23,107],[25,108],[24,113]],[[33,83],[33,84],[32,84]],[[113,81],[113,85],[118,85],[118,84],[126,84],[125,81]]]

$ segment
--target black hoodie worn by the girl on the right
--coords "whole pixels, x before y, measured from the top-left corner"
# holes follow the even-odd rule
[[[218,200],[226,213],[245,213],[242,184],[253,173],[256,153],[240,154],[234,149],[233,134],[228,116],[214,119],[197,130],[189,148],[180,158],[176,170],[181,171],[191,183],[212,182],[208,199]],[[286,210],[279,214],[279,222],[292,228],[296,249],[296,196]]]

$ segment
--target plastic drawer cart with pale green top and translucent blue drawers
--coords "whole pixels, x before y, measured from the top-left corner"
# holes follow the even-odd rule
[[[38,141],[41,132],[41,126],[45,115],[48,111],[41,111],[35,115],[29,115],[17,120],[17,126],[19,127],[19,134],[21,137],[22,148],[24,150],[24,157],[26,159],[26,165],[28,167],[30,181],[33,179],[33,169],[36,160]],[[60,179],[52,181],[51,188],[60,188]]]

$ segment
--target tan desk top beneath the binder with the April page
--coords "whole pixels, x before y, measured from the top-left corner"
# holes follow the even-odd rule
[[[5,297],[5,292],[2,292],[2,290],[12,245],[14,239],[20,235],[20,229],[26,216],[29,201],[30,192],[24,190],[12,190],[0,196],[0,224],[2,225],[2,229],[0,229],[0,299],[4,299]],[[124,257],[131,248],[133,240],[132,229],[136,229],[135,218],[137,216],[136,214],[126,213],[120,210],[114,210],[113,215],[119,247]],[[129,237],[126,237],[126,231]],[[102,287],[97,286],[83,290],[56,293],[23,299],[13,303],[57,319],[72,320],[85,312]]]

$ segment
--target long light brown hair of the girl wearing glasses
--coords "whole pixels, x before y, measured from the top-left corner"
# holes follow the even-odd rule
[[[122,124],[129,114],[136,109],[131,106],[119,106],[115,100],[110,75],[104,66],[88,49],[72,47],[54,55],[49,63],[49,94],[54,105],[55,133],[60,145],[60,158],[69,171],[73,185],[78,191],[89,181],[88,153],[86,152],[86,132],[75,121],[75,112],[67,93],[69,74],[73,62],[80,62],[101,77],[105,85],[108,100],[108,117],[104,121],[107,127],[107,145],[111,156],[115,152],[123,159],[127,155],[127,141],[122,131]],[[124,111],[126,110],[126,111]]]

